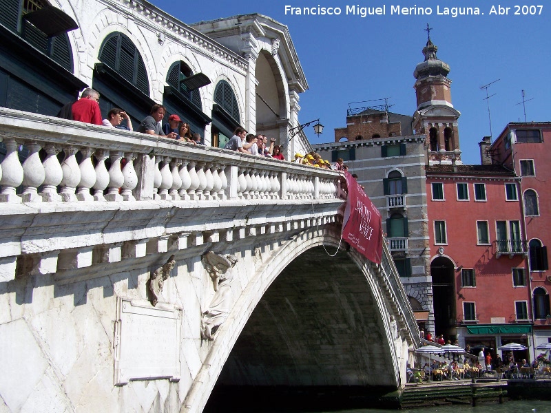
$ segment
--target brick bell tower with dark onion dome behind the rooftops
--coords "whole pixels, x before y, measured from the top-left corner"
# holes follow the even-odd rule
[[[461,114],[452,105],[450,66],[436,56],[438,47],[430,40],[431,28],[426,25],[428,39],[423,54],[425,60],[415,67],[417,110],[413,114],[413,129],[426,136],[428,165],[461,165],[457,119]]]

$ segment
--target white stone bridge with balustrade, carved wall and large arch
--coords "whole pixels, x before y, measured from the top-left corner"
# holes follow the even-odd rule
[[[1,411],[403,388],[417,324],[337,172],[3,108],[0,138]]]

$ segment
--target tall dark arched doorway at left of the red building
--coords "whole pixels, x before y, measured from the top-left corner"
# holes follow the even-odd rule
[[[455,275],[453,262],[437,257],[430,264],[433,277],[433,305],[435,309],[435,335],[455,339]]]

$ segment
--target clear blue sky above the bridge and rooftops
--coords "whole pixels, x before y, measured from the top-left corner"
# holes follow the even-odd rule
[[[525,1],[523,3],[523,1]],[[509,122],[524,121],[522,90],[526,92],[526,120],[551,121],[551,4],[527,0],[418,0],[391,1],[241,0],[184,3],[153,0],[184,23],[230,17],[236,14],[264,14],[289,27],[309,90],[300,95],[301,123],[320,118],[325,126],[318,138],[306,130],[312,143],[333,142],[334,129],[346,126],[349,103],[389,98],[391,112],[413,115],[415,91],[413,70],[422,62],[426,24],[438,46],[438,58],[450,65],[454,107],[461,112],[459,138],[464,163],[478,164],[481,138],[490,135],[486,92],[480,89],[492,81],[488,94],[492,136]],[[514,4],[526,6],[518,10]],[[508,14],[490,15],[491,7],[510,8]],[[341,8],[333,16],[285,14],[285,6]],[[346,6],[386,6],[386,14],[360,17],[346,15]],[[391,6],[432,9],[430,15],[391,14]],[[437,14],[444,8],[479,8],[481,15],[451,17]],[[518,11],[520,15],[515,15]],[[522,15],[522,12],[528,12]],[[535,12],[536,14],[530,14]],[[484,14],[482,14],[484,13]],[[532,100],[528,100],[532,99]],[[517,103],[520,103],[517,105]],[[365,105],[373,105],[366,103]]]

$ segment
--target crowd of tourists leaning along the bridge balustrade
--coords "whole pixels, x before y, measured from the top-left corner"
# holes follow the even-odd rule
[[[114,107],[107,112],[107,118],[101,118],[99,97],[100,94],[96,90],[92,88],[84,89],[81,98],[63,106],[58,116],[65,119],[91,123],[92,125],[103,125],[105,127],[132,131],[132,121],[123,109]],[[200,134],[191,131],[189,123],[184,122],[177,114],[171,114],[168,117],[168,123],[163,125],[162,122],[166,113],[167,109],[163,105],[153,105],[149,111],[149,116],[146,116],[142,120],[136,131],[180,142],[188,142],[193,145],[204,145]],[[224,149],[249,153],[254,156],[285,160],[282,153],[283,148],[280,145],[275,145],[275,138],[268,138],[262,134],[249,134],[242,127],[236,128]],[[314,151],[306,154],[295,153],[292,162],[316,168],[348,171],[348,167],[344,165],[342,158],[338,158],[335,164],[332,165],[329,160],[322,159],[320,154]]]

